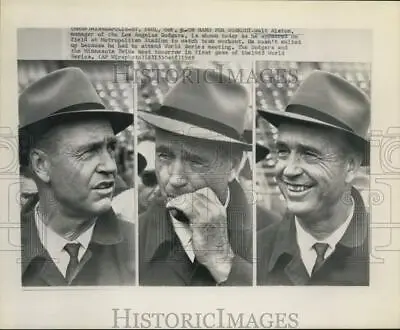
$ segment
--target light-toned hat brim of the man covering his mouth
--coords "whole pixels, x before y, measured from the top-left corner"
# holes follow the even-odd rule
[[[138,116],[146,123],[155,126],[157,128],[160,128],[162,130],[172,132],[174,134],[193,137],[202,140],[233,143],[241,146],[246,151],[252,150],[252,145],[249,143],[246,143],[238,139],[233,139],[226,135],[220,134],[215,131],[211,131],[209,129],[200,126],[188,124],[180,120],[172,119],[165,116],[160,116],[158,114],[154,114],[149,111],[143,111],[143,110],[138,111]]]

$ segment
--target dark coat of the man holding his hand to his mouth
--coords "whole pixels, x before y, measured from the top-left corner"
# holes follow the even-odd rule
[[[235,257],[223,285],[252,285],[252,212],[238,182],[229,185],[228,235]],[[139,217],[139,283],[141,285],[212,286],[215,280],[192,263],[177,237],[169,212],[154,201]]]

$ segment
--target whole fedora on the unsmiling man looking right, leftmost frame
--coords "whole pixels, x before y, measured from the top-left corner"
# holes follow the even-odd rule
[[[19,96],[18,112],[21,163],[32,141],[65,119],[101,116],[115,134],[133,122],[133,114],[106,109],[89,78],[75,67],[53,71],[28,86]]]

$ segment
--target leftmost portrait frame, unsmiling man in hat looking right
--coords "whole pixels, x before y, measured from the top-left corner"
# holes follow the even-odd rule
[[[24,287],[135,284],[133,90],[115,65],[18,61]]]

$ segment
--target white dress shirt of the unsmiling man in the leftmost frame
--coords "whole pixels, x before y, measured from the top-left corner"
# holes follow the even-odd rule
[[[65,244],[79,243],[81,245],[78,253],[78,260],[81,261],[83,255],[89,247],[90,240],[92,239],[95,222],[93,222],[93,224],[75,240],[68,241],[43,223],[39,213],[39,203],[37,203],[35,206],[35,224],[39,234],[40,242],[49,253],[61,274],[65,277],[70,259],[68,252],[64,250]]]

